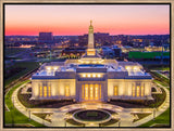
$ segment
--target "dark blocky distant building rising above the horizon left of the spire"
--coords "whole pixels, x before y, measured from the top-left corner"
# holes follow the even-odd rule
[[[39,32],[39,41],[52,41],[52,32]]]

